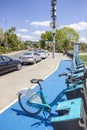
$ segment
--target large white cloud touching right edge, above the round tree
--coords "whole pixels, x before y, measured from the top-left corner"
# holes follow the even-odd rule
[[[74,23],[74,24],[70,24],[70,25],[63,25],[63,27],[64,26],[73,28],[77,31],[87,30],[87,22],[79,22],[79,23]]]

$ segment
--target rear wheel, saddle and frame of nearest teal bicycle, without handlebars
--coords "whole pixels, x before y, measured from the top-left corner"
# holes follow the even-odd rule
[[[42,110],[52,115],[51,110],[54,105],[65,95],[65,90],[62,90],[56,98],[48,104],[41,86],[42,79],[32,79],[32,83],[39,85],[39,91],[34,92],[33,89],[22,89],[18,92],[18,101],[21,108],[30,116],[38,115]],[[53,115],[52,115],[53,116]]]

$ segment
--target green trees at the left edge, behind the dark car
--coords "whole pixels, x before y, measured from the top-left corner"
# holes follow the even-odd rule
[[[15,31],[15,27],[11,27],[5,33],[0,29],[0,53],[27,49],[27,42],[22,42],[15,34]]]

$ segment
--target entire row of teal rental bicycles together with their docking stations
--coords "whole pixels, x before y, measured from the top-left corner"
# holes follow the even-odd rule
[[[54,130],[87,130],[87,72],[84,62],[75,57],[75,68],[66,68],[69,72],[59,74],[66,76],[66,88],[63,89],[51,103],[48,103],[41,85],[42,79],[32,79],[32,83],[38,84],[38,91],[31,88],[22,89],[18,92],[20,107],[30,116],[37,116],[43,112],[49,116],[41,120],[46,124],[50,122]],[[63,96],[67,100],[60,101]],[[57,105],[55,116],[52,113],[53,106]]]

